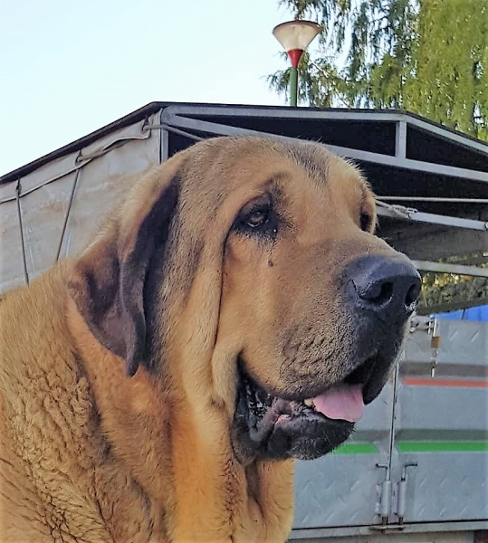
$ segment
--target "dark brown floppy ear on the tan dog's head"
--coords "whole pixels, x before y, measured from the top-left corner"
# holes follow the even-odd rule
[[[172,168],[171,168],[172,169]],[[177,174],[141,184],[100,239],[75,263],[69,291],[91,333],[133,376],[146,348],[144,288],[151,259],[163,251],[178,200]]]

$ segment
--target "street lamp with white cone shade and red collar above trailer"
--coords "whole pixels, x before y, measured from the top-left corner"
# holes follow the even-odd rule
[[[289,21],[273,28],[273,36],[282,44],[292,61],[290,73],[290,105],[296,107],[298,94],[297,66],[302,52],[307,49],[313,38],[321,32],[321,26],[311,21]]]

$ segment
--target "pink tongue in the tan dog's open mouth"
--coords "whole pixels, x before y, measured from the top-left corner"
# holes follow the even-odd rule
[[[332,386],[330,390],[313,398],[312,401],[317,411],[331,419],[356,423],[364,413],[363,395],[359,385]]]

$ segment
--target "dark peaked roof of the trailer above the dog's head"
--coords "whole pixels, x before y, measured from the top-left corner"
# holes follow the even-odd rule
[[[27,175],[54,158],[89,145],[110,132],[144,119],[158,110],[179,110],[193,119],[269,132],[292,138],[318,139],[326,144],[395,156],[396,131],[404,123],[407,157],[442,166],[471,169],[488,184],[488,145],[428,119],[402,110],[346,110],[235,106],[225,104],[152,102],[91,134],[0,177],[7,183]],[[398,149],[397,149],[398,150]]]

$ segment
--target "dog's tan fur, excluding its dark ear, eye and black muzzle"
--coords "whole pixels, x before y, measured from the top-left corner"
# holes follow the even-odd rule
[[[375,217],[356,169],[319,146],[310,153],[323,170],[272,140],[222,138],[190,148],[141,178],[80,258],[5,296],[2,543],[287,538],[293,462],[243,465],[234,457],[235,357],[245,352],[264,384],[290,388],[289,376],[277,373],[279,358],[301,350],[286,344],[287,333],[301,345],[316,333],[316,319],[324,339],[343,347],[328,273],[369,250],[391,251],[359,230],[361,210]],[[103,266],[112,253],[123,260],[134,250],[144,218],[175,176],[178,216],[151,300],[160,367],[128,377],[123,360],[93,335],[78,296],[87,270],[111,281]],[[270,179],[292,226],[261,250],[229,232]],[[314,305],[319,282],[321,308]],[[312,359],[299,361],[303,374],[317,371]],[[337,371],[330,368],[330,380]]]

